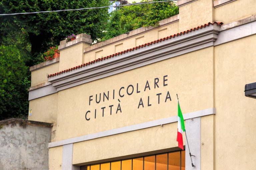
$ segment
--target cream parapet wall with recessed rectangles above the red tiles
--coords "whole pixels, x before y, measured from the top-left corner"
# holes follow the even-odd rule
[[[158,40],[160,38],[164,38],[164,37],[176,34],[179,31],[178,28],[179,28],[179,22],[175,22],[166,26],[157,27],[156,29],[153,29],[150,32],[141,33],[134,37],[130,37],[128,39],[118,41],[113,44],[109,44],[102,48],[97,48],[95,50],[89,51],[84,54],[84,62],[86,63],[86,62],[95,60],[96,58],[101,58],[102,56],[105,57],[105,56],[114,54],[116,52],[121,52],[123,50],[130,49],[138,45],[142,45],[148,42]],[[161,30],[164,30],[164,29],[167,29],[167,30],[164,32],[161,32]],[[160,34],[158,34],[159,31],[160,31]],[[140,37],[143,37],[143,38],[141,38],[140,41],[138,41],[138,38]],[[137,43],[136,43],[136,39],[137,39]],[[123,43],[122,48],[118,48],[118,51],[117,50],[115,51],[115,46],[120,43]],[[95,53],[98,51],[102,51],[102,52],[100,52],[100,55],[97,55],[97,54],[95,55]]]

